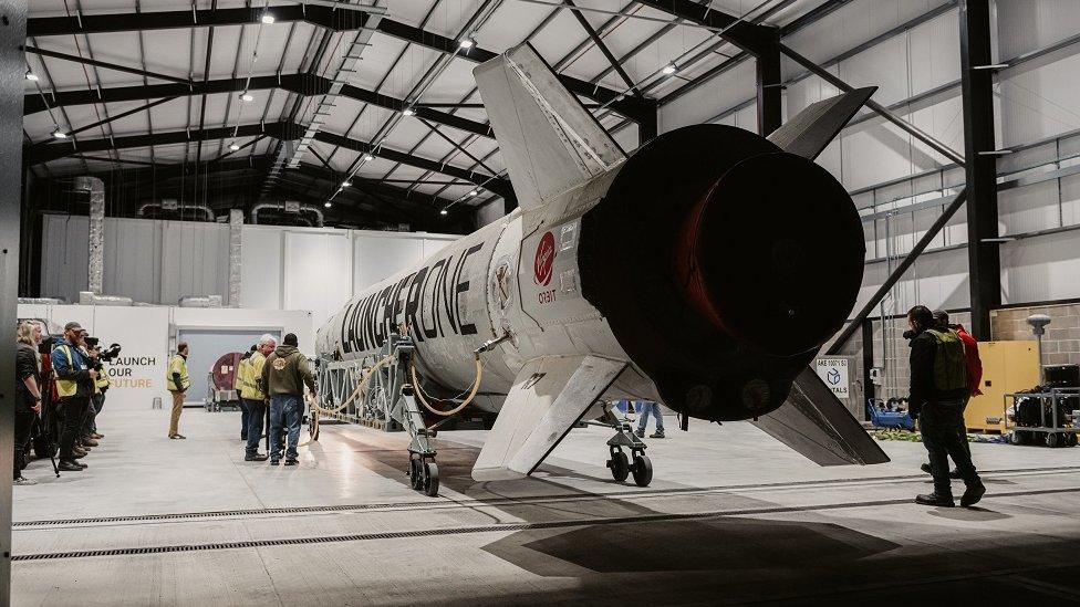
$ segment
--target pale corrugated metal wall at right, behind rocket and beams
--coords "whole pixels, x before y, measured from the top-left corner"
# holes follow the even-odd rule
[[[818,62],[842,57],[828,69],[856,86],[879,86],[876,101],[900,104],[899,114],[963,151],[959,25],[952,4],[945,0],[855,0],[787,36],[785,43]],[[995,11],[998,61],[1061,45],[1000,72],[995,90],[999,146],[1046,143],[1003,157],[999,170],[1032,169],[1019,174],[1026,176],[1080,164],[1080,42],[1072,40],[1080,35],[1080,2],[999,0]],[[786,80],[800,73],[799,65],[785,60]],[[699,122],[754,130],[756,109],[748,103],[754,91],[754,62],[746,61],[662,106],[661,130]],[[791,116],[834,94],[817,76],[789,82],[785,113]],[[935,171],[942,157],[876,117],[856,118],[818,161],[849,190],[866,190],[853,198],[858,207],[872,211],[947,196],[949,187],[964,179],[959,169]],[[887,275],[889,258],[906,254],[945,203],[864,223],[868,265],[859,305]],[[999,210],[1001,236],[1024,237],[1001,248],[1004,302],[1080,297],[1080,281],[1076,280],[1080,275],[1080,230],[1069,231],[1080,226],[1080,174],[1005,189]],[[949,249],[966,242],[964,214],[963,210],[957,213],[931,252],[897,284],[886,300],[885,314],[906,311],[915,303],[951,308],[968,305],[966,251]],[[1047,231],[1057,232],[1043,233]]]

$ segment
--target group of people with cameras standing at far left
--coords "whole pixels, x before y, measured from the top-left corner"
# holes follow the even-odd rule
[[[64,336],[49,350],[50,365],[55,380],[56,400],[49,399],[60,422],[60,462],[58,470],[80,472],[87,468],[79,460],[85,458],[105,438],[97,431],[97,416],[105,406],[108,390],[108,373],[100,358],[101,349],[89,341],[87,332],[79,323],[64,325]],[[40,345],[41,325],[24,322],[17,332],[15,350],[15,432],[14,432],[14,484],[37,484],[22,475],[27,467],[27,443],[34,421],[43,419],[42,362]],[[45,431],[44,428],[42,431]]]

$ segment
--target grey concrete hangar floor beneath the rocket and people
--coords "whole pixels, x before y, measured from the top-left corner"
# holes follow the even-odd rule
[[[648,441],[640,489],[611,480],[601,429],[488,483],[469,477],[485,432],[445,432],[428,499],[401,433],[324,426],[299,468],[270,468],[242,461],[238,414],[186,410],[186,441],[167,415],[106,408],[86,471],[31,464],[13,605],[1080,601],[1078,449],[974,444],[989,493],[948,510],[911,503],[918,443],[819,468],[697,422]]]

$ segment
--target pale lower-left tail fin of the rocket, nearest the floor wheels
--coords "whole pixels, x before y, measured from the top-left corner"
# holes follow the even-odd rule
[[[598,356],[544,356],[526,364],[472,467],[478,481],[531,474],[626,368]]]

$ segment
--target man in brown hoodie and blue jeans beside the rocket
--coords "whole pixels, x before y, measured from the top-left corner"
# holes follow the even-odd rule
[[[270,395],[270,465],[278,465],[281,460],[281,442],[278,437],[282,427],[289,431],[285,465],[297,464],[304,385],[315,394],[315,378],[311,366],[308,358],[297,349],[297,345],[295,334],[285,335],[284,343],[267,357],[262,366],[262,387]]]

